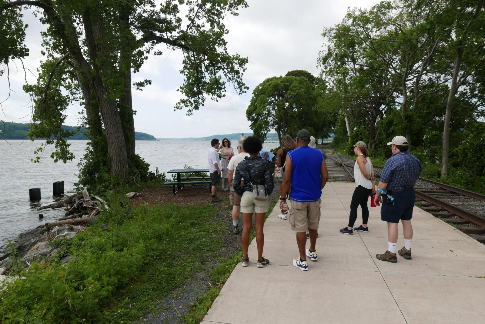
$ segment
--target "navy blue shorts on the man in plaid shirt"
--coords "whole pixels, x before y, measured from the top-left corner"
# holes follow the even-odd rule
[[[414,189],[393,192],[394,204],[386,201],[387,194],[382,196],[381,219],[389,223],[399,223],[399,220],[409,221],[413,218],[416,193]]]

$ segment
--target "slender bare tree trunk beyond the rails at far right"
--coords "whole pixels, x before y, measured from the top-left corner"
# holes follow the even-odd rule
[[[441,158],[441,177],[448,176],[448,162],[450,157],[450,120],[452,116],[453,98],[456,94],[458,73],[460,71],[461,60],[463,57],[463,48],[457,49],[455,65],[453,69],[453,79],[448,93],[448,101],[446,103],[445,123],[443,126],[443,155]]]

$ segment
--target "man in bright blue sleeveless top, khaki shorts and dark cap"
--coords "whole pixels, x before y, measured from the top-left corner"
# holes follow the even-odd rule
[[[296,232],[296,243],[300,256],[293,259],[293,265],[308,270],[307,256],[312,261],[318,259],[315,244],[320,223],[320,203],[322,189],[328,180],[328,171],[320,150],[308,146],[310,132],[300,130],[296,135],[296,149],[286,156],[285,176],[281,184],[280,209],[284,209],[288,190],[291,187],[290,225]],[[307,232],[310,247],[307,244]]]

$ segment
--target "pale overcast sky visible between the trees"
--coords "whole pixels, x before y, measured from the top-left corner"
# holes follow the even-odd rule
[[[318,53],[323,46],[321,33],[324,27],[339,23],[347,7],[370,7],[377,0],[248,0],[249,8],[239,11],[239,16],[226,19],[227,48],[229,53],[247,56],[249,65],[243,80],[249,87],[246,94],[238,96],[232,88],[219,102],[207,101],[192,116],[185,111],[174,112],[180,95],[177,88],[183,79],[179,74],[181,52],[165,51],[162,56],[151,56],[133,81],[151,79],[152,85],[143,91],[133,89],[135,129],[155,137],[202,137],[221,133],[250,132],[246,109],[253,89],[266,78],[285,75],[291,70],[307,70],[313,75],[317,69]],[[30,28],[26,44],[31,49],[24,64],[32,71],[27,80],[36,80],[39,60],[42,59],[40,30],[44,29],[32,13],[25,13]],[[10,98],[3,102],[0,119],[12,122],[29,122],[29,96],[22,90],[25,75],[10,65]],[[8,97],[6,75],[0,77],[0,102]],[[66,125],[78,125],[81,107],[67,110]]]

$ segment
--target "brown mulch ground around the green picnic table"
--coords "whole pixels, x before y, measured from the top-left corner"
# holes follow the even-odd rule
[[[217,187],[217,196],[219,198],[229,197],[229,190],[222,191],[221,187]],[[193,204],[200,205],[201,202],[210,203],[209,185],[185,185],[177,194],[173,193],[172,186],[164,186],[160,188],[146,188],[138,197],[131,199],[134,206],[148,204],[154,206],[157,203],[162,205],[177,203],[177,204]]]

